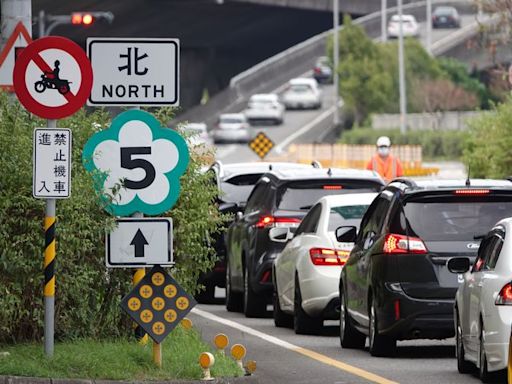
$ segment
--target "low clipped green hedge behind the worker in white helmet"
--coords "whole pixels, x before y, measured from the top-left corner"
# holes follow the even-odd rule
[[[388,136],[394,145],[421,145],[425,159],[455,160],[462,156],[466,135],[461,131],[408,131],[401,134],[399,129],[354,128],[343,132],[340,142],[375,145],[377,138]]]

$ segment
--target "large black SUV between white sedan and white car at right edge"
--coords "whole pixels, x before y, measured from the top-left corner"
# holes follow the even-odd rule
[[[396,341],[454,335],[458,277],[454,256],[476,257],[480,239],[512,216],[512,182],[506,180],[396,179],[368,208],[359,233],[336,230],[355,242],[340,277],[340,341],[392,355]]]

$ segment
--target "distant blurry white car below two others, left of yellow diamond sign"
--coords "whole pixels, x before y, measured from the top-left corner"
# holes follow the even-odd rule
[[[249,123],[243,113],[224,113],[212,131],[214,143],[247,143],[251,140]]]

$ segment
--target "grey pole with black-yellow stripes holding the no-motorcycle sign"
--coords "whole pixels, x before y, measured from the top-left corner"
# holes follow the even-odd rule
[[[57,120],[48,120],[48,128],[57,128]],[[56,200],[46,199],[44,218],[44,353],[53,356],[55,335],[55,228]]]

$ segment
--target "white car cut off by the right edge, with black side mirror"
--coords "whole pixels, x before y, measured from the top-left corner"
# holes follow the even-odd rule
[[[483,382],[489,373],[507,368],[512,321],[512,218],[499,221],[485,236],[470,267],[467,257],[448,261],[459,273],[455,297],[457,368],[476,367]],[[464,275],[461,275],[461,274]]]

